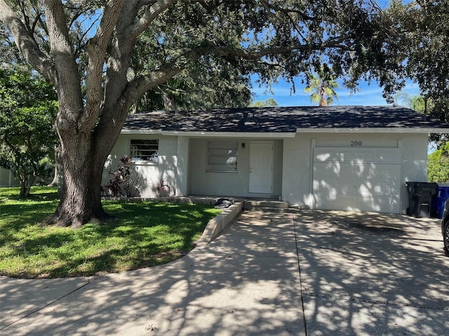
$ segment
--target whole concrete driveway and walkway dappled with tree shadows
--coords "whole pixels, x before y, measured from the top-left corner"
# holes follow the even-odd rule
[[[0,278],[0,335],[448,335],[439,221],[244,212],[175,262]]]

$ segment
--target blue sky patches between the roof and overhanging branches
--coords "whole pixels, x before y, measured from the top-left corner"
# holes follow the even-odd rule
[[[265,87],[258,87],[253,83],[252,92],[255,94],[254,101],[267,100],[273,98],[279,106],[313,106],[317,105],[311,102],[310,94],[304,92],[305,84],[301,84],[301,80],[296,81],[296,93],[290,94],[290,85],[285,80],[279,80],[279,83],[272,86],[274,94],[266,90]],[[349,106],[349,105],[370,105],[382,106],[388,105],[387,101],[382,97],[382,88],[375,81],[366,83],[361,81],[359,91],[351,94],[349,90],[342,87],[337,88],[338,100],[333,105]],[[267,92],[265,92],[267,91]],[[415,83],[408,82],[403,92],[407,92],[411,96],[420,94],[420,90]],[[401,102],[398,102],[401,104]]]

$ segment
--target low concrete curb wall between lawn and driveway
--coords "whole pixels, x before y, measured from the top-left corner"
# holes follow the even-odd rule
[[[234,218],[238,216],[243,209],[243,202],[236,202],[229,208],[223,209],[222,213],[212,218],[206,225],[203,231],[203,235],[196,242],[196,248],[204,247],[217,238],[220,233],[227,228],[227,225],[234,221]]]

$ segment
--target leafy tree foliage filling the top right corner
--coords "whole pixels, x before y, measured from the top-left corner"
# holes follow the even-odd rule
[[[445,0],[391,1],[386,12],[389,49],[396,73],[412,78],[427,104],[427,115],[449,122],[449,3]],[[438,146],[444,134],[432,134]]]

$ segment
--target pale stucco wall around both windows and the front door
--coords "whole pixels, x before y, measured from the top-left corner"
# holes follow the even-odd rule
[[[135,162],[136,172],[144,181],[140,196],[157,197],[156,187],[163,180],[170,186],[170,195],[212,195],[234,197],[272,197],[282,193],[283,141],[279,139],[232,139],[239,141],[237,173],[206,172],[206,146],[209,138],[162,136],[156,134],[121,134],[109,155],[103,175],[103,185],[109,180],[108,170],[114,171],[119,158],[129,155],[131,139],[159,139],[159,162]],[[213,138],[218,140],[219,138]],[[229,140],[229,139],[228,139]],[[271,141],[273,150],[272,194],[248,193],[249,148],[251,141]],[[243,148],[243,144],[245,144]]]

